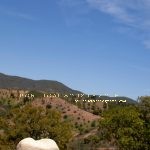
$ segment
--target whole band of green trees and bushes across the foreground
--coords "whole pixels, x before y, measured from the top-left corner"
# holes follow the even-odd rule
[[[0,106],[0,150],[13,150],[21,139],[29,136],[35,139],[52,138],[61,150],[96,150],[98,147],[150,149],[148,96],[140,97],[135,105],[110,105],[99,114],[103,119],[98,124],[91,124],[93,128],[98,127],[95,135],[73,141],[74,126],[68,123],[67,116],[62,121],[61,114],[51,107],[35,107],[29,103],[16,105],[10,99],[1,99]],[[92,109],[96,112],[94,106]]]

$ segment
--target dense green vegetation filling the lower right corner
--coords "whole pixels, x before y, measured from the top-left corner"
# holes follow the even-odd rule
[[[97,147],[149,150],[150,97],[139,100],[138,105],[116,105],[104,111],[97,134],[78,141],[78,145],[74,143],[76,147],[86,147],[87,150]]]

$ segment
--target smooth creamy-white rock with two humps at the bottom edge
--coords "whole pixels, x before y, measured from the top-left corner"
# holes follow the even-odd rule
[[[18,143],[17,150],[59,150],[59,148],[52,139],[25,138]]]

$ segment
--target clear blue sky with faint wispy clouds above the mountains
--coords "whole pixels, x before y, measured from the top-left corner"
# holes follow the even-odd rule
[[[149,9],[149,0],[0,0],[0,72],[150,95]]]

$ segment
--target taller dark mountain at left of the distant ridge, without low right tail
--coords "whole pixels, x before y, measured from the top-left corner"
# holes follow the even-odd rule
[[[44,92],[72,93],[82,92],[73,90],[61,82],[53,80],[32,80],[19,76],[11,76],[0,73],[0,88],[2,89],[23,89]]]

